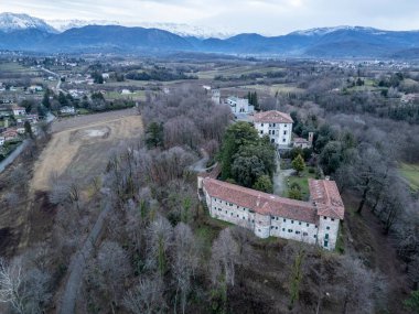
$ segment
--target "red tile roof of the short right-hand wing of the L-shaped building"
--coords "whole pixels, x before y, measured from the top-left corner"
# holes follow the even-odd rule
[[[318,208],[318,215],[343,219],[345,207],[336,183],[327,180],[309,180],[311,199]]]

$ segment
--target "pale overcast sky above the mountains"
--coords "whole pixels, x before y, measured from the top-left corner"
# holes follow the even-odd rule
[[[0,12],[126,25],[187,23],[270,35],[336,25],[419,30],[419,0],[0,0]]]

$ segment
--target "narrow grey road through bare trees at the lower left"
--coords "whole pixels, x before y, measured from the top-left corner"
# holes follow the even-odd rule
[[[105,219],[111,212],[112,207],[109,204],[104,205],[99,217],[96,220],[90,234],[84,242],[82,249],[75,253],[68,267],[68,279],[64,288],[64,294],[60,304],[60,314],[74,314],[76,308],[76,301],[83,280],[86,261],[93,252],[94,245],[96,243],[101,229],[104,228]]]

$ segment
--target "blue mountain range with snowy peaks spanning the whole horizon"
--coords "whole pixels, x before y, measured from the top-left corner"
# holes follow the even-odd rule
[[[97,23],[97,24],[96,24]],[[170,53],[203,52],[234,55],[321,58],[419,58],[419,31],[383,31],[362,26],[320,28],[281,36],[238,34],[206,37],[186,25],[160,28],[104,25],[105,21],[73,21],[60,32],[26,14],[0,14],[0,50],[34,52]],[[58,25],[55,23],[55,25]],[[63,25],[63,23],[61,24]],[[148,24],[147,26],[151,26]],[[155,24],[159,26],[159,24]],[[162,30],[165,29],[165,30]],[[175,29],[175,33],[169,30]],[[215,35],[215,33],[214,33]]]

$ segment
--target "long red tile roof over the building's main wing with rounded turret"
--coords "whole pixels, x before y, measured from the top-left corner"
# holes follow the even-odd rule
[[[212,197],[234,203],[262,215],[316,223],[315,207],[309,202],[283,198],[211,177],[204,178],[203,187]]]

